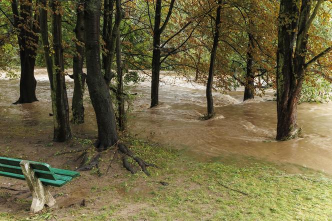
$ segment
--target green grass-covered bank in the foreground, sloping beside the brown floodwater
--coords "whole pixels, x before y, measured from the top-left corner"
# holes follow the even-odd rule
[[[322,174],[289,174],[269,163],[243,165],[223,160],[199,162],[186,154],[129,139],[142,158],[159,165],[129,174],[103,155],[101,176],[82,172],[89,194],[79,203],[38,214],[2,212],[2,220],[328,220],[332,218],[332,180]],[[55,154],[54,154],[55,155]],[[54,156],[56,157],[56,156]],[[99,181],[100,180],[100,181]],[[68,185],[71,185],[70,183]],[[57,190],[61,191],[61,190]],[[63,190],[64,191],[64,190]],[[70,192],[70,191],[68,191]],[[5,193],[1,193],[3,196]],[[5,205],[1,205],[5,206]]]

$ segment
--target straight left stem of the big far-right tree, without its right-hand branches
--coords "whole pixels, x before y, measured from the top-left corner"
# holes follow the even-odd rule
[[[288,14],[290,23],[284,23],[281,16]],[[278,51],[276,70],[277,99],[277,140],[291,138],[296,132],[296,106],[298,94],[294,94],[296,76],[293,73],[293,46],[297,26],[298,8],[296,2],[282,0],[280,2]]]

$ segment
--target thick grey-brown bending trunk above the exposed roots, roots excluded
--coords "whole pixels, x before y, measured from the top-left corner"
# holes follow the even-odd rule
[[[100,0],[85,1],[86,84],[95,112],[99,150],[117,142],[116,121],[106,80],[101,73],[99,56]]]

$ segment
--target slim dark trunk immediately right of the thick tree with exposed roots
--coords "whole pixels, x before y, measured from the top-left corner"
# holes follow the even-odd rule
[[[119,130],[125,128],[125,111],[124,111],[124,98],[123,98],[123,79],[122,79],[122,61],[121,61],[121,44],[120,44],[120,32],[117,31],[116,37],[116,69],[117,69],[117,112],[118,119],[117,124]]]

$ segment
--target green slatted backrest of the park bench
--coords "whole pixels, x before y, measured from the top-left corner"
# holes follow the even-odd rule
[[[0,171],[22,175],[23,172],[19,165],[21,161],[22,159],[14,159],[0,156]],[[30,163],[30,166],[32,167],[34,173],[39,178],[50,180],[57,179],[55,173],[51,171],[51,167],[47,163],[35,162],[30,160],[27,161]]]

